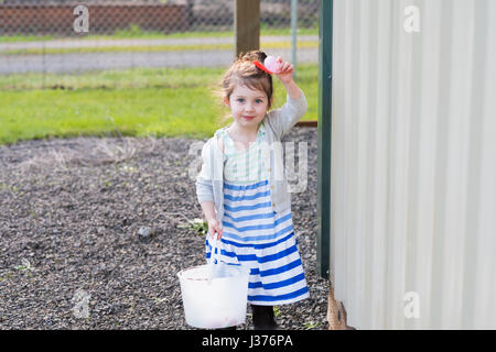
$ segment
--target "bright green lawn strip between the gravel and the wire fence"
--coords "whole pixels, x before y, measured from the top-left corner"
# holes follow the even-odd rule
[[[223,125],[219,117],[228,113],[212,92],[223,72],[214,68],[129,69],[79,76],[2,77],[0,144],[117,133],[207,138]],[[274,108],[278,108],[284,102],[285,92],[277,78],[274,82]],[[304,120],[314,120],[316,65],[300,65],[298,84],[309,101]],[[109,88],[116,85],[118,88]]]

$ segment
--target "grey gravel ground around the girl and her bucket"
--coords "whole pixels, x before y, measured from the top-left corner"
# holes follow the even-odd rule
[[[293,128],[284,141],[308,143],[308,187],[292,194],[292,212],[311,298],[278,307],[278,321],[327,329],[328,282],[315,272],[316,130]],[[0,146],[0,329],[192,329],[176,273],[205,263],[204,237],[187,227],[202,217],[188,177],[195,142]],[[252,328],[249,316],[239,328]]]

